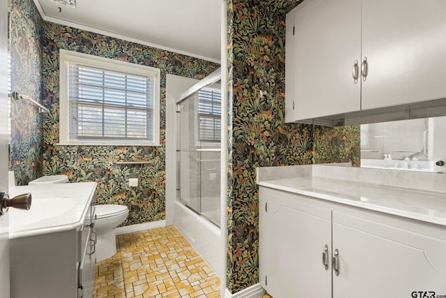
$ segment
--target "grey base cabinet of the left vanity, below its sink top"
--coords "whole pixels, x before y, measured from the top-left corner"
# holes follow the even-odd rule
[[[90,210],[94,216],[94,205]],[[77,229],[11,239],[11,298],[93,297],[95,233],[91,218]]]

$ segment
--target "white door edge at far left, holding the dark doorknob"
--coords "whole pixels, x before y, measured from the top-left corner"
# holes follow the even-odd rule
[[[0,12],[0,191],[8,191],[8,3],[6,0],[0,0]],[[0,216],[1,298],[9,298],[8,238],[6,213]]]

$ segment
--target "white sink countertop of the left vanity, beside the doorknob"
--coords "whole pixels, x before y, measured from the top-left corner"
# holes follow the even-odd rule
[[[10,188],[10,198],[31,193],[29,210],[9,208],[10,239],[79,228],[95,198],[95,189],[95,182]]]

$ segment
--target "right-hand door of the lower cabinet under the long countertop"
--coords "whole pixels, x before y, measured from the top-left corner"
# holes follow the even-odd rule
[[[436,239],[427,235],[429,230],[418,233],[401,228],[403,225],[395,228],[382,220],[363,218],[333,211],[333,252],[339,250],[333,298],[433,297],[413,296],[412,292],[446,293],[445,237]]]

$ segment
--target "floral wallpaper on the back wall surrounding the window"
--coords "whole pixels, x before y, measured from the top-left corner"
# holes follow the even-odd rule
[[[201,79],[220,65],[51,22],[43,24],[43,98],[51,113],[43,121],[43,173],[67,174],[70,181],[96,181],[98,204],[124,204],[123,225],[165,216],[166,74]],[[59,49],[160,68],[160,147],[59,146]],[[112,165],[114,160],[154,160],[153,165]],[[125,184],[125,173],[138,172],[139,186]]]

